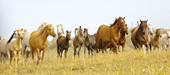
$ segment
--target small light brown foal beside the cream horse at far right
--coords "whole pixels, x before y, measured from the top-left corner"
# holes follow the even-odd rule
[[[160,38],[161,38],[161,29],[156,29],[156,35],[154,37],[151,37],[151,42],[149,43],[150,45],[150,50],[152,50],[152,46],[155,50],[155,48],[159,49],[160,45]]]

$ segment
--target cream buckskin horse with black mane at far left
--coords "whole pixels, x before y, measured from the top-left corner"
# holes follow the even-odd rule
[[[7,50],[9,51],[10,54],[10,64],[12,62],[12,57],[13,57],[12,54],[14,54],[15,57],[14,61],[15,64],[17,65],[20,59],[20,52],[22,48],[21,39],[23,38],[23,33],[21,30],[16,30],[16,32],[18,33],[17,37],[16,38],[11,37],[7,42],[8,43]]]

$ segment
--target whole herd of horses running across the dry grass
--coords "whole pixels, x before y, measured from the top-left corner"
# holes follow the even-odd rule
[[[146,46],[146,50],[150,47],[150,50],[154,48],[169,48],[170,45],[170,30],[166,30],[166,34],[161,34],[161,29],[156,29],[155,36],[152,25],[147,24],[147,21],[141,21],[137,27],[134,27],[131,31],[131,41],[135,49],[141,49],[143,45]],[[75,37],[73,39],[74,57],[76,54],[80,55],[80,50],[84,46],[84,53],[86,49],[88,54],[93,55],[93,51],[98,53],[99,51],[107,52],[110,48],[114,53],[118,54],[119,47],[122,46],[124,51],[126,38],[128,35],[128,27],[125,24],[125,17],[116,18],[114,23],[110,26],[101,25],[94,35],[88,33],[88,29],[75,28]],[[47,49],[48,40],[47,37],[53,36],[52,43],[57,48],[57,54],[62,58],[65,51],[65,58],[67,56],[68,49],[70,47],[69,41],[71,40],[71,31],[64,33],[63,26],[57,25],[57,34],[54,32],[52,24],[42,23],[38,30],[29,31],[25,29],[15,30],[10,39],[4,38],[1,40],[0,36],[0,54],[2,57],[8,57],[10,63],[14,57],[14,62],[17,65],[20,54],[26,59],[29,54],[32,55],[34,62],[34,55],[37,56],[37,65],[40,59],[43,61],[44,54]],[[42,56],[41,56],[42,52]]]

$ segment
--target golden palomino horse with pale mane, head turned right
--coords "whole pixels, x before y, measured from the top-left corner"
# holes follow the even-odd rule
[[[41,51],[43,51],[42,60],[44,58],[44,53],[45,53],[47,45],[48,45],[47,37],[49,35],[51,35],[53,37],[56,36],[56,34],[54,32],[54,27],[51,24],[46,25],[40,31],[33,31],[31,33],[31,36],[29,39],[29,44],[30,44],[30,48],[31,48],[33,62],[34,62],[34,52],[36,51],[36,53],[38,55],[37,56],[38,57],[37,65],[39,64]]]

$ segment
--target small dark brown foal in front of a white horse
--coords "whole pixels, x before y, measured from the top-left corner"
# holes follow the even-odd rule
[[[69,48],[69,40],[71,39],[71,31],[66,31],[66,37],[60,36],[57,39],[57,53],[62,58],[63,51],[65,50],[65,58],[67,57],[67,52]]]

